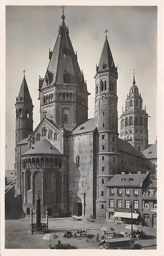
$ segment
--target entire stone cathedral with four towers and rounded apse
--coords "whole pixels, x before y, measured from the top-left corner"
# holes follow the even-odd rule
[[[144,174],[148,160],[148,114],[135,82],[118,118],[118,70],[107,35],[95,70],[95,115],[65,15],[44,78],[39,77],[40,123],[33,130],[33,102],[25,79],[16,98],[15,197],[26,215],[41,198],[52,217],[104,218],[106,184],[116,174]],[[118,120],[121,131],[118,133]]]

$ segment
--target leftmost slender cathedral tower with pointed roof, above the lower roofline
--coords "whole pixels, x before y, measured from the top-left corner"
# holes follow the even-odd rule
[[[25,72],[25,71],[24,71]],[[25,79],[25,74],[21,83],[18,97],[16,97],[16,130],[15,144],[24,138],[27,138],[29,133],[33,132],[33,102],[30,96],[28,84]]]

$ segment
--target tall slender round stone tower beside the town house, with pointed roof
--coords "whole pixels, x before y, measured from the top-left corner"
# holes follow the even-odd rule
[[[105,31],[107,32],[107,30]],[[118,173],[117,67],[107,35],[95,75],[95,126],[98,129],[97,216],[104,217],[106,183]]]

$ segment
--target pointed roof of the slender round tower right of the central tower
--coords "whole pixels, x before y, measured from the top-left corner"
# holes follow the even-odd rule
[[[113,59],[110,45],[108,43],[107,35],[106,35],[103,49],[101,52],[101,57],[99,60],[99,65],[98,65],[96,71],[105,71],[105,70],[109,70],[109,69],[117,69],[117,68],[115,67],[114,59]]]

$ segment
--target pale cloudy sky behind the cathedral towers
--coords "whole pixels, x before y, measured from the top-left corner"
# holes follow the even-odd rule
[[[60,6],[7,6],[6,8],[6,168],[14,168],[15,100],[26,70],[26,81],[34,104],[34,129],[40,121],[39,75],[48,66],[49,47],[58,36]],[[81,7],[65,8],[65,23],[77,51],[78,63],[87,80],[89,118],[94,117],[94,75],[105,34],[118,65],[118,116],[125,107],[126,95],[135,80],[146,104],[149,118],[149,143],[154,143],[157,105],[157,8],[156,7]],[[120,125],[119,125],[120,127]]]

